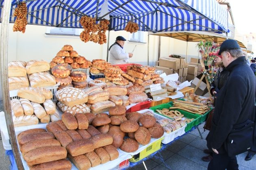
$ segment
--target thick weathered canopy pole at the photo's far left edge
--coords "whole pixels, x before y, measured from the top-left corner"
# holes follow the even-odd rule
[[[1,27],[1,38],[0,38],[0,70],[1,70],[1,88],[3,95],[4,104],[4,114],[5,121],[7,125],[7,130],[9,134],[9,139],[11,141],[11,147],[13,150],[13,155],[19,170],[24,169],[22,161],[20,159],[20,152],[17,145],[17,140],[15,136],[15,130],[13,126],[13,117],[11,114],[11,102],[9,95],[9,83],[8,83],[8,33],[9,33],[9,19],[11,13],[11,2],[12,0],[5,0],[2,9],[2,27]]]

